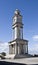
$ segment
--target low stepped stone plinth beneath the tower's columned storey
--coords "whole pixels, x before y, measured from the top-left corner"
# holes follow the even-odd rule
[[[21,58],[30,58],[33,57],[30,54],[20,54],[20,55],[15,55],[15,54],[9,54],[5,56],[6,59],[21,59]]]

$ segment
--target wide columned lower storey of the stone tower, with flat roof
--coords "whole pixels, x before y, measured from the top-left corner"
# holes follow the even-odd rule
[[[28,53],[28,40],[15,39],[9,42],[9,54],[26,54]]]

